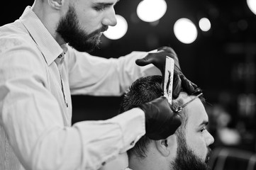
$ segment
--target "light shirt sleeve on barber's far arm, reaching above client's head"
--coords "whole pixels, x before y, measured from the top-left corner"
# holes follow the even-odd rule
[[[139,77],[160,75],[157,67],[149,64],[139,67],[135,60],[148,52],[106,59],[69,49],[69,85],[72,94],[94,96],[120,96]]]

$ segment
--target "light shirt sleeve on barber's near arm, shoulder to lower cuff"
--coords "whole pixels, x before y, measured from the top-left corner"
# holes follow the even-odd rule
[[[145,134],[139,108],[65,127],[37,55],[23,42],[0,52],[0,125],[25,169],[99,169]]]

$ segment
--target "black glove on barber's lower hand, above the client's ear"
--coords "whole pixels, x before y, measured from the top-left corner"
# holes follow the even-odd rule
[[[179,128],[181,118],[170,108],[164,96],[139,106],[145,113],[146,136],[151,140],[164,140]]]

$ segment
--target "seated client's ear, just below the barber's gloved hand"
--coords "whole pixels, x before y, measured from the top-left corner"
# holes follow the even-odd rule
[[[155,141],[156,148],[160,154],[164,157],[168,157],[169,154],[175,154],[177,151],[177,138],[176,135],[171,135],[165,140]]]

